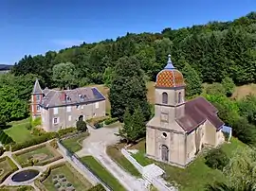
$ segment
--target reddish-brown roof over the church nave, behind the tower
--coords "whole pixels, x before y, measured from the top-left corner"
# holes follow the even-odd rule
[[[224,122],[217,116],[217,109],[204,97],[197,97],[185,103],[185,115],[176,119],[183,130],[191,132],[206,120],[219,130]]]

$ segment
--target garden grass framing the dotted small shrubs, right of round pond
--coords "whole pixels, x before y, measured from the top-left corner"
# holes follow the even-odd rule
[[[64,175],[67,182],[72,183],[77,191],[84,191],[92,187],[91,183],[84,179],[77,170],[75,170],[74,168],[72,169],[71,166],[62,165],[60,167],[52,169],[46,181],[43,182],[48,191],[56,190],[56,187],[54,186],[52,181],[54,175]]]

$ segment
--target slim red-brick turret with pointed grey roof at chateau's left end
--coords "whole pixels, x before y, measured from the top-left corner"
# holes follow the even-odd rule
[[[35,119],[37,116],[41,116],[40,103],[43,100],[43,91],[39,84],[38,79],[36,79],[33,91],[31,93],[31,103],[30,103],[30,112],[32,114],[32,119]]]

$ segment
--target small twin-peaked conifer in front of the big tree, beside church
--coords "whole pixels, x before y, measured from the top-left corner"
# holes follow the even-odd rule
[[[138,106],[133,114],[129,109],[124,114],[124,125],[119,129],[119,136],[127,141],[127,143],[134,143],[138,138],[143,137],[146,133],[144,116],[141,108]]]

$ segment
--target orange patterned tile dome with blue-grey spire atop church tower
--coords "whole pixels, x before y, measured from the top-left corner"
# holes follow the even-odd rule
[[[168,55],[167,65],[156,76],[155,87],[174,88],[182,86],[185,86],[183,75],[175,69],[171,55]]]

